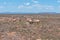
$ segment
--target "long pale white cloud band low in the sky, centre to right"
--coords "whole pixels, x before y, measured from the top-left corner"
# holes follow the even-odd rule
[[[32,4],[32,5],[20,5],[18,9],[37,9],[37,10],[54,10],[54,6],[51,5],[41,5],[41,4]]]

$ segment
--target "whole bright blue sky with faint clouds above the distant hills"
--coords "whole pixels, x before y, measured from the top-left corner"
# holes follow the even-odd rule
[[[0,12],[60,13],[60,0],[0,0]]]

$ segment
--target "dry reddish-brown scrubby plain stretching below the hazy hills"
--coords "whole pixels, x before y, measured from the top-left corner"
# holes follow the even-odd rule
[[[0,15],[0,40],[60,40],[60,14]]]

